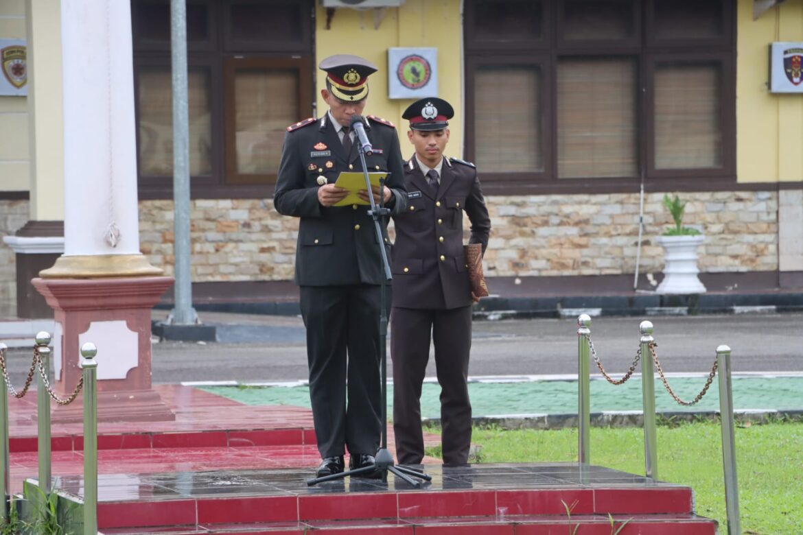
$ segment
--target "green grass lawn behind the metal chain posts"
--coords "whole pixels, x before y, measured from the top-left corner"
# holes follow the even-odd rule
[[[471,442],[483,463],[577,461],[577,429],[475,428]],[[728,533],[721,444],[719,424],[658,427],[658,478],[693,488],[696,513]],[[592,428],[589,456],[592,464],[643,474],[642,429]],[[736,428],[736,462],[742,532],[803,533],[803,423]]]

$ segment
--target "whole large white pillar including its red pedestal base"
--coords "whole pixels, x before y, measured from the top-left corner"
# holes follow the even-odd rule
[[[151,309],[173,278],[140,253],[131,4],[61,0],[61,35],[64,254],[32,281],[63,333],[55,389],[75,387],[79,347],[95,342],[100,420],[175,419],[151,388]]]

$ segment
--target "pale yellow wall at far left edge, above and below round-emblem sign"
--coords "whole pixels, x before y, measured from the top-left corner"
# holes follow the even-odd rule
[[[0,1],[0,38],[26,39],[24,0]],[[0,191],[27,191],[28,107],[24,96],[0,96]]]

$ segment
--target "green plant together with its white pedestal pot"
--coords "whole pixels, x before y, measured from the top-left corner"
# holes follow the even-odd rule
[[[698,229],[683,226],[686,203],[677,194],[663,196],[664,208],[672,216],[675,226],[667,227],[657,241],[664,249],[663,280],[658,294],[703,294],[705,286],[697,274],[697,247],[705,237]]]

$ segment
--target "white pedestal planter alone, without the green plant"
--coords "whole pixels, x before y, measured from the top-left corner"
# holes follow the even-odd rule
[[[658,236],[664,255],[663,281],[658,294],[704,294],[705,286],[697,278],[697,246],[705,236]]]

